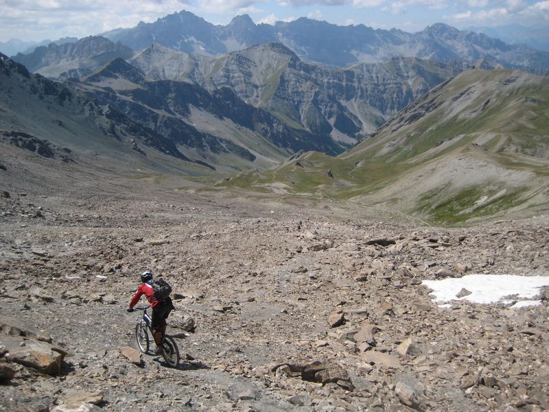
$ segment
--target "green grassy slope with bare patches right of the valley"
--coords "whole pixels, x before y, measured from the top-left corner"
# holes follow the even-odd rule
[[[339,157],[307,152],[219,183],[454,225],[549,209],[549,79],[462,73]]]

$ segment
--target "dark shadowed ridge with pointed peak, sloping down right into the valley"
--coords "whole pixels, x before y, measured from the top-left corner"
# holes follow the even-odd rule
[[[110,83],[111,78],[115,78],[115,83],[126,79],[134,83],[136,88],[112,93],[117,86]],[[87,78],[86,84],[82,85],[82,89],[90,99],[109,105],[117,113],[126,113],[132,122],[161,133],[174,145],[202,148],[213,153],[232,152],[247,161],[254,161],[257,155],[262,155],[257,150],[259,144],[266,146],[263,149],[266,151],[272,150],[272,146],[291,152],[320,150],[336,153],[340,150],[329,135],[316,136],[305,130],[290,128],[263,108],[247,104],[228,87],[207,91],[200,85],[185,82],[148,80],[140,69],[121,59],[113,60],[102,71]],[[109,87],[109,90],[97,91],[97,86]],[[163,117],[157,113],[161,108],[167,112]],[[234,137],[220,137],[226,135],[226,130],[209,129],[207,133],[200,132],[197,127],[206,128],[207,125],[201,123],[205,120],[194,119],[194,116],[205,117],[207,122],[228,119],[231,126],[237,125],[241,130],[254,133],[256,145],[248,143],[246,148]]]

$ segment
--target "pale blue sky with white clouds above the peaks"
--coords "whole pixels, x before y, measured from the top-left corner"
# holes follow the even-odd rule
[[[0,0],[0,41],[82,38],[180,10],[214,24],[249,14],[255,23],[309,17],[407,32],[439,22],[460,29],[519,23],[549,30],[549,0]]]

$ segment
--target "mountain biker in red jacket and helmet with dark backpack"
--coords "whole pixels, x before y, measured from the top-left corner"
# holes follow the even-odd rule
[[[141,295],[147,297],[147,300],[152,307],[152,336],[154,336],[156,347],[160,347],[162,337],[166,333],[166,319],[168,315],[170,315],[170,312],[175,309],[174,304],[172,304],[172,299],[170,297],[156,300],[154,297],[154,290],[152,289],[152,273],[150,271],[141,273],[141,282],[143,283],[137,288],[137,292],[133,295],[127,310],[128,312],[133,312],[133,307],[137,305],[137,302],[141,299]]]

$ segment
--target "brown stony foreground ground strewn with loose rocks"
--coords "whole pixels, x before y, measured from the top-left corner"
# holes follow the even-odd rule
[[[421,285],[549,275],[546,218],[441,229],[82,193],[0,196],[0,411],[549,409],[547,291],[445,309]],[[145,269],[174,287],[177,369],[127,348]],[[60,370],[14,361],[30,341],[66,351]]]

